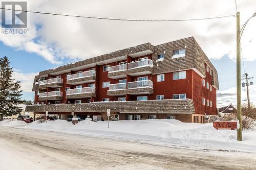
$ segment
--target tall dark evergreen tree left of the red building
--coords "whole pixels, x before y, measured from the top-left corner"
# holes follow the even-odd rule
[[[22,112],[22,108],[17,104],[21,104],[20,82],[12,79],[12,68],[10,62],[5,56],[0,58],[0,113],[4,116],[12,116]]]

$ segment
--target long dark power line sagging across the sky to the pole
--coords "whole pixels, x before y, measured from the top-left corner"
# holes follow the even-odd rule
[[[10,10],[10,11],[21,11],[28,13],[36,13],[36,14],[46,14],[46,15],[56,15],[56,16],[68,16],[68,17],[77,17],[77,18],[88,18],[88,19],[103,19],[103,20],[117,20],[117,21],[141,21],[141,22],[175,22],[175,21],[193,21],[193,20],[206,20],[206,19],[218,19],[218,18],[227,18],[234,15],[225,15],[225,16],[217,16],[217,17],[208,17],[208,18],[193,18],[193,19],[167,19],[167,20],[144,20],[144,19],[118,19],[118,18],[106,18],[106,17],[93,17],[93,16],[81,16],[81,15],[69,15],[69,14],[58,14],[58,13],[49,13],[49,12],[39,12],[39,11],[27,11],[27,10],[16,10],[16,9],[8,9],[8,8],[0,8],[2,10]]]

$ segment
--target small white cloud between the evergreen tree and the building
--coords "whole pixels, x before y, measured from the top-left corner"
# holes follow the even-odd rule
[[[20,90],[24,92],[32,92],[32,87],[34,83],[35,76],[38,75],[37,73],[22,73],[19,70],[15,70],[12,72],[12,78],[16,81],[20,81],[20,85],[22,86]]]

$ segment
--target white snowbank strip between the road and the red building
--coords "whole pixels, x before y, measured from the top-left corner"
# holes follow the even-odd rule
[[[73,125],[66,120],[47,123],[4,120],[0,126],[55,131],[61,133],[116,138],[141,143],[185,147],[201,150],[224,150],[256,153],[256,131],[243,131],[243,141],[237,141],[236,130],[216,130],[210,124],[182,123],[179,120],[146,119],[92,122],[83,120]]]

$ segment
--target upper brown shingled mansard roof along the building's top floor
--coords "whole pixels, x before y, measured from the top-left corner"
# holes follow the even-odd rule
[[[173,52],[175,50],[181,50],[186,48],[186,57],[172,59]],[[212,69],[212,86],[216,89],[219,89],[219,82],[218,82],[218,72],[214,65],[210,62],[207,58],[205,53],[203,52],[202,48],[196,42],[194,37],[183,38],[180,40],[167,42],[164,44],[153,46],[151,43],[144,43],[141,45],[133,46],[130,48],[125,48],[124,50],[119,50],[113,53],[104,54],[98,57],[93,57],[90,59],[86,59],[83,61],[78,61],[76,63],[63,65],[57,67],[55,69],[48,69],[45,71],[40,71],[39,76],[47,76],[51,75],[54,72],[71,70],[75,67],[86,66],[89,64],[96,64],[102,61],[110,61],[118,57],[126,56],[126,55],[134,55],[140,52],[151,52],[152,53],[152,60],[153,60],[153,72],[152,74],[161,74],[166,72],[174,72],[179,70],[185,69],[196,69],[197,72],[202,77],[206,77],[206,68],[205,63]],[[156,62],[157,55],[164,53],[164,61]],[[107,63],[106,63],[107,64]],[[101,64],[99,64],[101,65]],[[35,81],[38,81],[39,76],[35,77]],[[33,91],[38,89],[38,85],[33,84]]]

